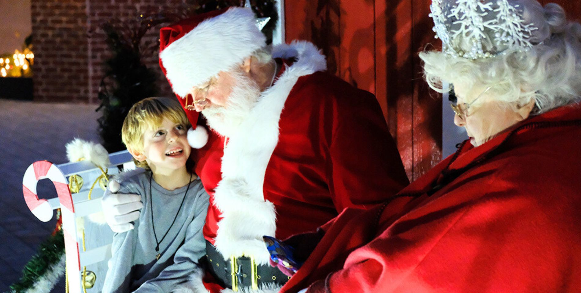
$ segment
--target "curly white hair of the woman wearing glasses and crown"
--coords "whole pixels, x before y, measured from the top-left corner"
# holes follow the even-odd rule
[[[535,100],[532,114],[579,102],[581,25],[568,21],[565,11],[555,3],[543,9],[536,14],[541,19],[530,21],[547,27],[547,36],[530,50],[508,48],[496,57],[478,60],[437,51],[420,53],[429,86],[437,92],[449,91],[443,88],[446,82],[493,86],[490,92],[508,107],[518,108]]]

